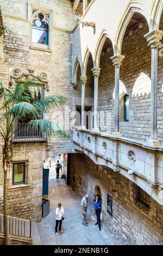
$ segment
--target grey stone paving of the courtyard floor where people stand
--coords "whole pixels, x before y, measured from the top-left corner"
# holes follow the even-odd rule
[[[96,218],[88,209],[87,222],[82,224],[80,198],[63,179],[55,179],[52,169],[49,177],[50,214],[36,224],[41,245],[115,245],[116,243],[103,230],[95,225]],[[64,233],[55,235],[55,209],[61,202],[65,209],[65,220],[62,222]]]

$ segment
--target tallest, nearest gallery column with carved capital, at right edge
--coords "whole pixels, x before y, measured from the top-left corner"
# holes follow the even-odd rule
[[[157,139],[157,84],[158,84],[158,46],[161,44],[163,31],[155,29],[145,34],[151,47],[151,138],[147,144],[158,147],[161,143]]]

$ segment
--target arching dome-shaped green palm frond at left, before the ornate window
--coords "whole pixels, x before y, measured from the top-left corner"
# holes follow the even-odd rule
[[[0,120],[4,120],[7,117],[14,117],[20,119],[22,117],[27,117],[30,119],[39,119],[41,114],[36,108],[29,102],[20,102],[15,104],[7,112],[3,113]]]

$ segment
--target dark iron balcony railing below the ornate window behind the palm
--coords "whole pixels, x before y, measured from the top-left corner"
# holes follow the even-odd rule
[[[20,141],[46,141],[46,135],[43,135],[40,129],[33,129],[27,123],[18,123],[14,142]]]

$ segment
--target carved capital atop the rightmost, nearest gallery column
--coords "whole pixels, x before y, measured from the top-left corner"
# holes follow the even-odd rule
[[[159,29],[154,29],[151,32],[148,32],[144,35],[144,37],[147,39],[148,45],[151,46],[151,48],[157,48],[161,42],[163,31]]]

